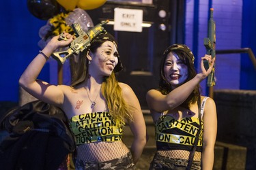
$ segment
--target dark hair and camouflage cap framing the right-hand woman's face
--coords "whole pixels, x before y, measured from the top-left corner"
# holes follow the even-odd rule
[[[162,60],[160,61],[160,80],[158,83],[158,90],[162,93],[162,95],[167,95],[169,92],[171,92],[171,90],[173,90],[173,88],[171,87],[171,84],[165,78],[165,71],[164,71],[165,60],[166,60],[169,52],[174,52],[175,54],[177,54],[177,56],[188,67],[188,78],[185,82],[188,82],[189,80],[193,79],[195,77],[195,75],[197,75],[197,71],[195,70],[195,66],[193,63],[194,56],[193,56],[192,52],[189,50],[189,48],[187,48],[187,46],[186,46],[186,50],[184,50],[184,48],[182,48],[182,49],[173,48],[173,46],[175,46],[175,45],[172,45],[169,48],[167,48],[167,50],[165,50],[164,54],[162,55]],[[180,45],[180,46],[184,47],[185,45]],[[201,92],[201,88],[198,84],[195,87],[195,89],[193,90],[193,92],[191,92],[189,97],[182,103],[182,107],[189,109],[190,105],[193,103],[196,103],[197,99],[199,99],[200,92]]]

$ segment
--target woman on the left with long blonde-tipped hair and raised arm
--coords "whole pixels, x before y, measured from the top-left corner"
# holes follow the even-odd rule
[[[146,143],[145,121],[133,90],[115,79],[122,70],[117,42],[109,33],[91,41],[89,49],[73,59],[70,86],[37,80],[48,57],[72,42],[69,33],[63,37],[67,40],[53,37],[35,56],[20,86],[66,113],[76,141],[76,169],[134,169]],[[130,150],[122,141],[126,123],[134,135]]]

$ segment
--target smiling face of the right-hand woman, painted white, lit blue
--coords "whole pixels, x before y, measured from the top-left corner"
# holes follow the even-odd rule
[[[177,54],[170,52],[167,55],[164,66],[165,78],[173,86],[173,88],[180,86],[188,78],[188,67],[177,56]]]

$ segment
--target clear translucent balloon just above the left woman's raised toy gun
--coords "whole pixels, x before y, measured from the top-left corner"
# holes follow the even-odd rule
[[[79,23],[83,31],[88,31],[90,27],[94,27],[94,22],[92,22],[89,14],[87,14],[87,12],[85,12],[85,10],[82,10],[81,8],[74,9],[73,12],[70,12],[70,14],[68,14],[65,20],[66,24],[68,24],[69,26],[74,23]]]

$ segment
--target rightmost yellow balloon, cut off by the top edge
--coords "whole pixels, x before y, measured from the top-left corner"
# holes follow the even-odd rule
[[[106,0],[79,0],[77,6],[83,10],[94,10],[105,2]]]

